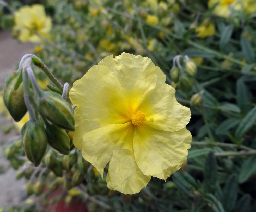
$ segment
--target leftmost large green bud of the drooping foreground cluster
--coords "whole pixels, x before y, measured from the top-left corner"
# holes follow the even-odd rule
[[[19,87],[15,88],[17,81],[20,81],[20,76],[21,71],[10,75],[3,91],[4,104],[15,121],[20,121],[27,112],[23,97],[23,84],[20,83]]]

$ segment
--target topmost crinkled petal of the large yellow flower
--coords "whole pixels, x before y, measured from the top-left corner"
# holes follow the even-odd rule
[[[122,53],[115,58],[108,56],[99,64],[107,66],[118,77],[131,115],[156,87],[157,66],[148,57]]]

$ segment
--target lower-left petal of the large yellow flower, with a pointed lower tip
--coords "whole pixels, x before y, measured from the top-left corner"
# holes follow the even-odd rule
[[[133,127],[131,122],[125,124],[111,124],[106,127],[98,128],[83,136],[82,155],[85,160],[90,162],[103,177],[104,167],[112,158],[113,150],[123,144],[123,148],[128,146],[131,149]],[[133,152],[127,151],[129,154]]]

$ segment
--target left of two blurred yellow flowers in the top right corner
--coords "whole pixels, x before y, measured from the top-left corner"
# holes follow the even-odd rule
[[[240,10],[241,2],[242,1],[235,1],[235,0],[209,0],[208,7],[212,8],[217,4],[217,6],[215,6],[214,10],[212,11],[212,13],[221,17],[229,17],[230,16],[229,7],[232,7],[235,10]]]

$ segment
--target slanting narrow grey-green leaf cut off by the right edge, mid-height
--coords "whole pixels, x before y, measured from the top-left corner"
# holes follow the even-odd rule
[[[240,140],[244,137],[245,133],[248,132],[249,129],[255,124],[256,122],[256,106],[251,109],[248,114],[240,121],[238,127],[235,131],[235,138]]]

